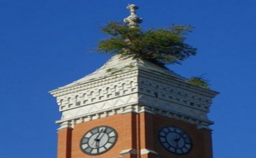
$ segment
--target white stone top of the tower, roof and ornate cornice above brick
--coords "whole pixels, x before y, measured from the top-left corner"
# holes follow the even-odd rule
[[[151,62],[118,55],[90,75],[50,93],[62,113],[56,123],[63,128],[67,121],[77,124],[131,112],[163,115],[209,128],[213,122],[207,113],[218,94]]]

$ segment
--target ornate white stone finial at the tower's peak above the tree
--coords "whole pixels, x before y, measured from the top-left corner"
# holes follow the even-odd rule
[[[130,9],[131,15],[124,19],[125,23],[129,23],[128,26],[134,27],[138,26],[140,23],[142,23],[142,18],[138,17],[135,13],[136,10],[139,8],[138,6],[131,4],[126,7],[127,9]]]

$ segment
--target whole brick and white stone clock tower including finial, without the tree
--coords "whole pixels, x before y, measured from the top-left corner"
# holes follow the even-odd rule
[[[125,19],[141,23],[135,5]],[[212,158],[213,90],[134,56],[50,91],[62,113],[58,158]]]

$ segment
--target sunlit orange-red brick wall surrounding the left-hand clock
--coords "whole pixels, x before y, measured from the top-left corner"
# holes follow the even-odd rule
[[[72,154],[71,158],[117,158],[120,156],[120,152],[126,149],[136,149],[136,139],[137,139],[137,128],[136,119],[137,114],[127,113],[127,114],[117,114],[114,116],[108,116],[105,118],[100,118],[92,121],[87,121],[84,123],[76,124],[72,133]],[[105,152],[102,155],[90,156],[84,154],[80,150],[80,140],[84,133],[88,130],[97,126],[110,126],[113,127],[117,134],[118,139],[116,144],[111,148],[111,150]],[[103,156],[104,155],[104,156]]]

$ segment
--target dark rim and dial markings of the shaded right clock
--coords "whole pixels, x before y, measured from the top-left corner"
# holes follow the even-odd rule
[[[171,131],[170,129],[174,129],[174,130]],[[166,133],[166,135],[163,136],[162,133]],[[179,141],[179,140],[182,138],[182,139],[183,139],[182,141],[184,141],[184,142],[183,142],[184,145],[182,145],[182,147],[177,147],[177,146],[178,146],[178,142],[176,142],[176,143],[177,143],[177,146],[174,147],[173,144],[170,143],[170,140],[169,140],[169,142],[168,142],[168,140],[167,140],[167,139],[168,139],[168,138],[167,138],[168,136],[167,136],[167,135],[170,134],[170,133],[173,133],[172,135],[175,136],[175,137],[177,136],[177,138],[175,138],[177,141]],[[171,135],[171,136],[169,135],[169,138],[172,137],[172,135]],[[183,136],[183,135],[185,135],[185,136]],[[161,138],[161,137],[162,137],[162,138]],[[186,141],[185,141],[185,138],[187,139]],[[164,139],[165,139],[166,142],[163,142]],[[172,141],[175,141],[174,138],[172,138],[172,139],[173,139]],[[192,148],[193,148],[192,139],[191,139],[191,137],[189,136],[189,134],[186,133],[186,132],[185,132],[183,129],[181,129],[180,127],[177,127],[177,126],[165,126],[165,127],[160,128],[160,130],[159,130],[159,132],[158,132],[158,141],[160,142],[160,144],[162,145],[162,147],[163,147],[165,150],[167,150],[167,151],[169,151],[169,152],[171,152],[171,153],[173,153],[173,154],[175,154],[175,155],[186,155],[186,154],[188,154],[189,152],[191,152],[191,151],[192,151]],[[187,141],[188,141],[188,142],[187,142]],[[168,144],[169,147],[166,147],[165,144]],[[177,152],[177,149],[182,149],[182,148],[184,148],[186,144],[188,144],[187,146],[189,146],[189,149],[186,148],[187,151],[182,152],[182,153],[178,153],[178,152]],[[175,151],[170,150],[171,148],[174,148]],[[181,150],[181,151],[183,151],[183,150]]]

